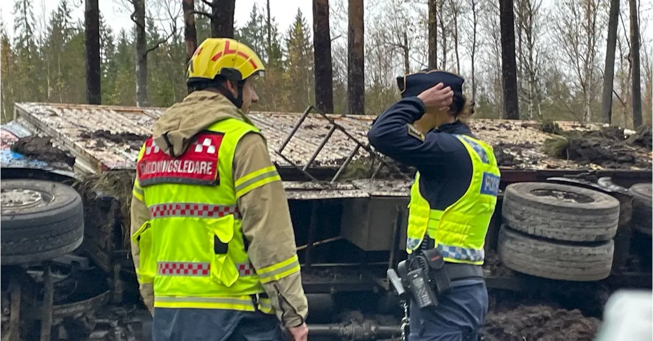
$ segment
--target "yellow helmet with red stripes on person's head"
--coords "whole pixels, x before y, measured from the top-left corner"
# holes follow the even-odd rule
[[[265,67],[256,53],[231,38],[206,38],[188,62],[189,85],[221,76],[234,82],[251,76],[263,77]]]

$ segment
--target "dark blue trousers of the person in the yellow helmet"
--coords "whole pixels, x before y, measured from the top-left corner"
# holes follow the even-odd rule
[[[154,341],[283,341],[276,316],[236,310],[155,308]]]

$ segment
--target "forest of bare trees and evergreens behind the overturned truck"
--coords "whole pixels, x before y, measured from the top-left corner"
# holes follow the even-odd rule
[[[58,1],[41,16],[32,0],[3,5],[14,25],[0,22],[0,121],[14,102],[170,106],[197,44],[234,37],[266,64],[254,110],[378,115],[399,98],[396,76],[434,67],[466,78],[474,117],[653,122],[650,1],[312,0],[313,23],[288,8],[280,27],[281,0],[242,22],[236,0],[103,0],[131,18],[120,31],[98,0]]]

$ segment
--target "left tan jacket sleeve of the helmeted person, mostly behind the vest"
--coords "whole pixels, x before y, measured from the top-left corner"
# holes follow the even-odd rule
[[[150,211],[148,210],[148,207],[145,204],[143,188],[141,188],[140,184],[138,183],[138,175],[136,175],[136,179],[134,180],[134,187],[132,190],[132,197],[131,197],[130,215],[131,215],[130,216],[131,221],[129,224],[130,226],[129,233],[131,237],[131,235],[136,233],[136,231],[138,231],[138,229],[143,224],[145,224],[145,222],[150,220]],[[138,249],[138,245],[136,245],[134,241],[131,241],[131,256],[134,261],[134,268],[136,270],[136,279],[138,280],[138,289],[140,291],[140,295],[143,297],[143,303],[148,308],[148,310],[150,310],[150,313],[153,313],[154,289],[151,282],[144,280],[138,274],[138,269],[140,269],[140,250]]]

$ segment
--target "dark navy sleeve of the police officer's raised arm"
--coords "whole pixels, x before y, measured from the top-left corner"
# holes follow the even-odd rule
[[[413,126],[425,110],[424,103],[417,97],[396,102],[379,115],[370,128],[370,144],[380,153],[420,171],[442,166],[447,153],[458,149],[458,145],[452,147],[453,136],[449,134],[422,134]]]

